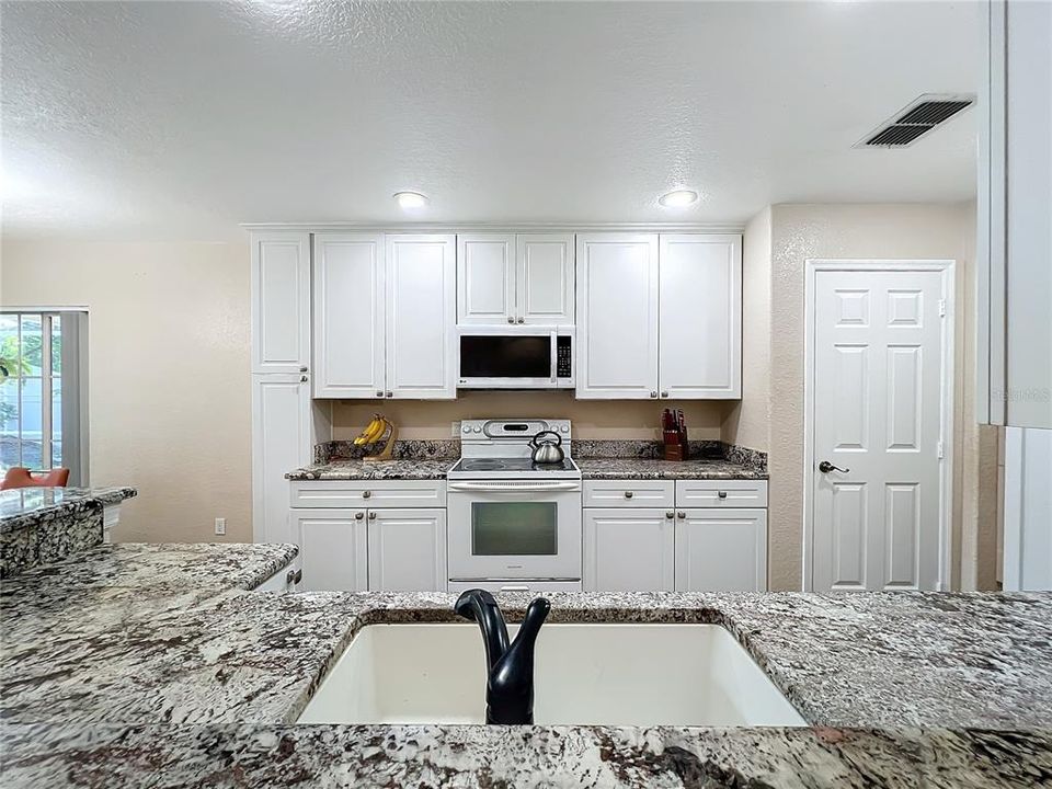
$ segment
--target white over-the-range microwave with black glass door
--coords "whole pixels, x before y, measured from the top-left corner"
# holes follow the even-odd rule
[[[461,389],[573,389],[574,330],[459,327]]]

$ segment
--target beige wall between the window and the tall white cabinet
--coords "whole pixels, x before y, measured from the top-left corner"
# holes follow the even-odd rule
[[[89,308],[91,483],[139,489],[114,539],[251,541],[248,243],[4,239],[0,304]]]

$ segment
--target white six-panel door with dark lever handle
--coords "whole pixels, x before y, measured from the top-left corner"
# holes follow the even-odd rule
[[[815,592],[938,587],[945,287],[934,270],[814,272]]]

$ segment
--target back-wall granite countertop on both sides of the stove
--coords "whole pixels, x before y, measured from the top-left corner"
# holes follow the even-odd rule
[[[732,460],[653,460],[649,458],[579,458],[582,479],[767,479],[766,471]],[[446,479],[457,458],[402,460],[334,460],[285,474],[290,480]]]

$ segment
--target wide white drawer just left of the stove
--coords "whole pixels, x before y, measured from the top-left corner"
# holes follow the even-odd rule
[[[445,480],[304,480],[291,483],[293,508],[445,505]]]

